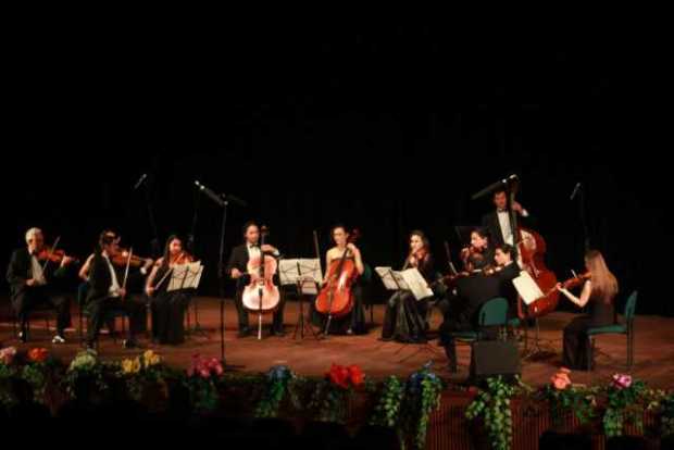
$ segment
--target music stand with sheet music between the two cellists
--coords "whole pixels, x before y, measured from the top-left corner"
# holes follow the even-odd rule
[[[297,339],[298,330],[300,332],[300,339],[304,339],[304,329],[309,329],[313,337],[320,340],[311,323],[304,321],[304,296],[315,296],[319,293],[319,286],[323,279],[321,260],[280,260],[278,264],[278,277],[282,286],[295,285],[297,289],[299,313],[297,324],[295,325],[295,332],[292,333],[292,339]]]

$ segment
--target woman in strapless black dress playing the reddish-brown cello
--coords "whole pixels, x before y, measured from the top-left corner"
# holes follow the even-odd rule
[[[346,260],[351,260],[353,262],[357,279],[351,286],[351,295],[353,297],[351,311],[339,317],[333,316],[327,332],[329,334],[337,335],[365,334],[367,333],[367,329],[365,326],[363,285],[361,282],[361,275],[365,272],[365,264],[363,263],[361,250],[355,246],[355,243],[349,241],[353,240],[352,236],[349,232],[347,232],[346,226],[341,224],[333,226],[330,236],[335,242],[335,247],[330,248],[325,254],[326,271],[323,286],[325,287],[328,283],[329,267],[333,265],[338,265],[342,257],[346,257]],[[325,329],[327,317],[327,315],[321,314],[316,311],[315,304],[312,305],[312,322],[314,325],[320,326],[321,329]]]

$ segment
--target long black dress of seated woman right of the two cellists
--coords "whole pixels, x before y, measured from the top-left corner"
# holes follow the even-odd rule
[[[428,254],[416,267],[424,279],[433,282],[433,257]],[[425,342],[428,298],[416,300],[409,290],[395,292],[386,303],[382,339],[401,342]]]

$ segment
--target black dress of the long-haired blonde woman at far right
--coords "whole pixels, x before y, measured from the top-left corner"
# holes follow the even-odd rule
[[[590,297],[589,314],[575,317],[564,327],[564,366],[577,371],[587,370],[587,355],[590,351],[587,329],[615,323],[613,299],[607,303],[597,296]],[[590,368],[594,361],[590,362]]]

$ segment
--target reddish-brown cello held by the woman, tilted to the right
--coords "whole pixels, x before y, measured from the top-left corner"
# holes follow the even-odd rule
[[[358,229],[352,230],[347,239],[348,243],[353,243],[360,238]],[[355,262],[348,258],[349,249],[345,248],[341,258],[333,260],[327,267],[326,283],[319,292],[315,300],[316,311],[327,314],[329,327],[332,317],[344,317],[353,309],[353,292],[351,286],[358,279],[359,273]]]

